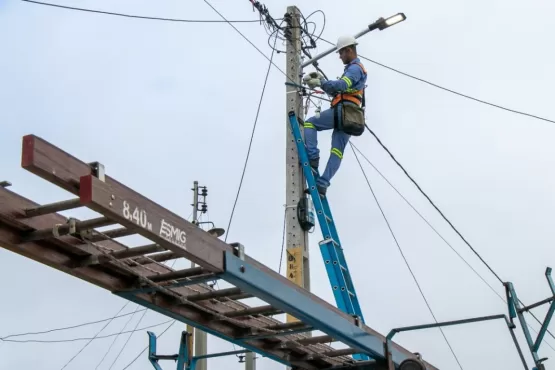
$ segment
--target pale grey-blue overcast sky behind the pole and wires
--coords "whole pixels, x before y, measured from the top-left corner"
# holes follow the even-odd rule
[[[143,16],[219,19],[201,0],[56,3]],[[211,3],[232,20],[257,18],[244,0]],[[362,38],[359,53],[464,94],[555,119],[551,102],[555,54],[547,47],[555,32],[552,2],[267,0],[264,4],[276,18],[288,5],[297,5],[305,15],[323,10],[322,36],[332,41],[381,16],[404,12],[404,23]],[[311,20],[321,29],[321,15]],[[236,27],[270,55],[261,25]],[[278,42],[280,46],[285,47]],[[326,49],[320,44],[318,51]],[[104,163],[110,176],[183,217],[191,213],[190,188],[198,180],[209,188],[209,213],[204,219],[227,228],[268,67],[268,61],[228,24],[148,21],[1,0],[0,54],[0,180],[11,181],[12,190],[40,203],[71,198],[21,169],[21,138],[35,134],[78,158]],[[515,284],[525,303],[546,298],[544,271],[555,260],[555,175],[550,171],[555,163],[555,124],[464,99],[363,62],[368,70],[369,126],[501,278]],[[284,54],[277,54],[275,63],[283,69]],[[330,78],[342,73],[336,54],[320,64]],[[228,241],[240,241],[249,255],[276,270],[285,202],[284,92],[284,76],[274,68],[228,230]],[[329,132],[320,134],[322,163],[329,140]],[[501,284],[372,136],[364,134],[353,143],[503,295]],[[505,313],[499,297],[371,166],[363,167],[437,320]],[[387,333],[395,327],[433,322],[350,149],[328,194],[367,325]],[[333,303],[319,238],[319,230],[310,236],[312,291]],[[175,265],[187,266],[184,260]],[[5,282],[1,337],[102,320],[126,303],[4,249],[0,249],[0,279]],[[129,303],[123,312],[135,309]],[[535,312],[543,318],[546,309]],[[125,330],[132,330],[137,323],[142,328],[167,321],[150,311],[142,320],[141,315],[115,320],[102,334],[117,333],[126,323]],[[530,317],[529,323],[538,329]],[[87,338],[104,324],[18,339]],[[151,330],[160,333],[164,328]],[[553,325],[551,329],[555,331]],[[159,352],[175,353],[182,330],[183,325],[173,325],[160,338]],[[444,332],[464,369],[522,368],[502,322]],[[517,334],[525,348],[520,326]],[[66,369],[123,369],[147,345],[145,330],[134,333],[124,348],[128,336],[118,337],[100,366],[113,337],[93,341]],[[396,340],[440,369],[459,369],[436,329],[399,334]],[[553,337],[546,341],[555,347]],[[0,342],[0,368],[61,369],[85,343]],[[209,338],[209,352],[232,349],[230,343]],[[554,357],[554,352],[544,344],[540,357]],[[526,356],[530,361],[529,353]],[[267,359],[257,365],[265,370],[283,368]],[[164,369],[173,366],[163,364]],[[243,368],[234,357],[210,360],[208,366]],[[145,353],[129,368],[152,366]]]

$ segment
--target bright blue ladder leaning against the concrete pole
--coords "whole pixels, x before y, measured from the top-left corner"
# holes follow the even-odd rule
[[[333,295],[335,296],[335,302],[341,311],[355,316],[360,323],[363,324],[364,317],[362,315],[362,310],[360,309],[360,304],[355,292],[353,280],[351,279],[351,274],[349,273],[349,268],[347,267],[347,261],[345,260],[345,255],[343,254],[343,248],[341,247],[339,234],[337,233],[335,222],[333,221],[330,205],[327,197],[321,197],[318,193],[318,189],[316,188],[316,179],[319,174],[317,170],[310,166],[310,161],[308,159],[308,154],[306,153],[306,147],[295,112],[289,112],[289,123],[291,124],[293,136],[295,137],[297,151],[299,153],[299,161],[308,183],[308,190],[312,198],[312,203],[314,203],[318,223],[320,224],[320,229],[322,230],[322,235],[324,236],[324,240],[319,243],[320,252],[324,258],[324,264],[332,286]],[[361,354],[356,354],[353,357],[361,361],[369,359],[367,355]]]

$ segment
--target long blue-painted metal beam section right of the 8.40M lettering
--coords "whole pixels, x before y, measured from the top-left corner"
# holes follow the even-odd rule
[[[225,252],[225,266],[226,271],[223,278],[238,288],[290,313],[305,324],[361,353],[375,359],[385,359],[385,342],[382,339],[368,333],[350,320],[338,315],[337,312],[313,301],[301,291],[285,288],[277,278],[234,256],[232,252]],[[391,354],[396,366],[407,358],[396,348],[391,349]]]

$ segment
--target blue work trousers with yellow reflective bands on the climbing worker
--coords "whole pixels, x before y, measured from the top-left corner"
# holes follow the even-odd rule
[[[339,103],[337,106],[339,120],[342,119],[342,105],[343,103]],[[333,115],[334,108],[326,109],[320,113],[320,117],[311,117],[304,123],[305,144],[309,159],[320,158],[320,150],[318,149],[318,131],[333,129],[330,158],[324,173],[317,180],[318,185],[324,187],[330,186],[330,181],[341,165],[343,151],[345,150],[345,146],[347,146],[351,137],[343,131],[334,128]]]

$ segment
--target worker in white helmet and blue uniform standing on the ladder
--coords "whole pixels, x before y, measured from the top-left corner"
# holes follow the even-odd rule
[[[360,135],[364,131],[363,100],[366,84],[366,69],[357,56],[356,39],[342,36],[337,41],[337,53],[345,64],[345,71],[340,79],[329,81],[319,72],[312,72],[303,78],[303,82],[311,89],[321,87],[328,95],[333,96],[331,107],[306,120],[303,124],[305,144],[310,165],[318,170],[320,151],[318,149],[317,132],[333,129],[331,154],[324,173],[318,177],[316,186],[321,196],[326,195],[332,177],[336,174],[345,146],[351,135]],[[355,114],[358,119],[346,119],[346,112]],[[352,117],[351,114],[349,117]]]

